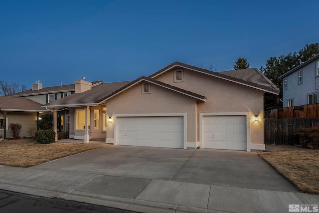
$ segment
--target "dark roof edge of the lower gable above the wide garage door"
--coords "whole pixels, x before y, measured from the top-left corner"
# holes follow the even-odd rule
[[[143,81],[143,80],[148,81],[148,82],[151,82],[151,83],[154,83],[154,84],[157,84],[157,85],[160,85],[160,86],[162,86],[162,87],[165,87],[165,88],[168,88],[168,89],[171,89],[171,90],[174,90],[174,91],[179,92],[179,93],[183,93],[183,94],[185,94],[185,95],[194,97],[194,98],[199,99],[199,100],[201,100],[201,101],[204,101],[204,102],[206,101],[206,97],[205,97],[205,96],[202,96],[202,95],[199,95],[199,94],[196,94],[196,93],[193,93],[193,92],[190,92],[190,91],[187,91],[187,90],[178,88],[178,87],[174,87],[174,86],[172,86],[172,85],[170,85],[170,84],[166,84],[166,83],[163,83],[163,82],[161,82],[161,81],[157,81],[157,80],[152,79],[152,78],[150,78],[150,77],[141,76],[141,77],[139,77],[138,79],[136,79],[135,81],[132,81],[132,82],[128,83],[127,85],[123,86],[122,88],[120,88],[120,89],[114,91],[114,92],[111,93],[110,95],[108,95],[108,96],[106,96],[105,98],[101,99],[101,100],[99,101],[99,103],[104,102],[104,101],[110,99],[110,98],[113,97],[114,95],[119,94],[120,92],[124,91],[125,89],[130,88],[131,86],[134,86],[135,84],[137,84],[137,83],[139,83],[139,82],[141,82],[141,81]]]

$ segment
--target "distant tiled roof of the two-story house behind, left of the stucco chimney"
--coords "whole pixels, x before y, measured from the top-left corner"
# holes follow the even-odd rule
[[[75,87],[74,84],[67,84],[62,86],[51,86],[51,87],[44,87],[40,90],[25,90],[23,92],[18,92],[15,94],[10,95],[11,97],[23,97],[27,95],[38,95],[38,94],[47,94],[47,93],[54,93],[54,92],[64,92],[64,91],[74,91]]]

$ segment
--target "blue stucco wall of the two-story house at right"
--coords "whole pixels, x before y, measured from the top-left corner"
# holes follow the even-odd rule
[[[298,71],[302,70],[303,72],[303,81],[299,83]],[[288,100],[294,100],[294,106],[301,106],[308,104],[308,95],[317,93],[319,89],[319,75],[317,76],[316,72],[316,61],[307,64],[302,69],[298,69],[295,72],[291,73],[287,77],[287,89],[283,86],[283,107],[287,107]],[[283,78],[283,85],[284,79]],[[316,79],[317,89],[316,89]]]

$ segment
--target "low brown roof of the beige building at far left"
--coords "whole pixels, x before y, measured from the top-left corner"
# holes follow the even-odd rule
[[[41,104],[26,98],[0,96],[0,111],[43,112]]]

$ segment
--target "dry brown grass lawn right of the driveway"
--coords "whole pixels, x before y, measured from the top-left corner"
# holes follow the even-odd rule
[[[319,194],[319,150],[261,153],[260,156],[300,191]]]

